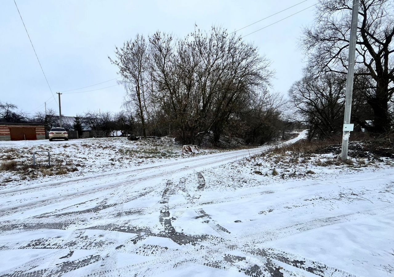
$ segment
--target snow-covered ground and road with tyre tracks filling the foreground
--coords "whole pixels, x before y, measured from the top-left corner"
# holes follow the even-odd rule
[[[10,182],[0,276],[394,276],[392,162],[267,150]]]

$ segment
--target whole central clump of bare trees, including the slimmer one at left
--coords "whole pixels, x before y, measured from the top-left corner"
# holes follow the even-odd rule
[[[213,134],[217,144],[223,133],[236,133],[231,126],[246,118],[242,114],[265,112],[264,103],[259,106],[255,100],[268,99],[270,62],[254,45],[223,28],[203,32],[196,26],[177,39],[156,32],[148,42],[137,35],[116,48],[115,56],[110,60],[126,84],[125,107],[136,107],[136,126],[144,136],[170,134],[183,143],[200,143]],[[260,132],[264,124],[247,126]],[[257,137],[262,136],[249,141]]]

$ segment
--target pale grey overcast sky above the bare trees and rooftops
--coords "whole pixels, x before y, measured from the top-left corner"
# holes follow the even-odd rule
[[[52,91],[67,91],[117,78],[108,60],[115,45],[121,46],[137,33],[157,30],[183,37],[194,24],[209,30],[212,24],[230,32],[293,6],[301,0],[256,1],[132,1],[132,0],[16,0]],[[306,2],[249,26],[246,35],[315,4]],[[245,37],[272,61],[276,71],[273,91],[286,94],[301,77],[303,54],[298,39],[303,26],[312,24],[314,7]],[[118,111],[125,96],[116,80],[63,94],[64,115],[87,110]],[[0,1],[0,101],[35,113],[58,106],[45,78],[13,0]]]

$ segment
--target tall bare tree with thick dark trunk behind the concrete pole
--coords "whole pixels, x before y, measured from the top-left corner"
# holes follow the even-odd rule
[[[320,0],[316,24],[304,30],[302,44],[316,74],[346,74],[351,0]],[[355,76],[368,76],[364,96],[374,111],[374,131],[386,132],[394,93],[394,7],[392,0],[360,0]]]

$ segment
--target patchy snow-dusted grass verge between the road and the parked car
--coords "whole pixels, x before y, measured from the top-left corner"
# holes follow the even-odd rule
[[[200,149],[199,155],[222,152],[217,149]],[[50,151],[51,164],[46,167],[48,154],[37,153],[36,160],[41,166],[32,168],[34,151]],[[0,162],[15,161],[15,170],[2,173],[0,185],[18,185],[20,181],[46,181],[54,175],[64,178],[84,176],[92,173],[117,171],[165,160],[190,158],[182,155],[182,145],[174,139],[141,139],[129,141],[126,138],[90,138],[69,141],[0,141]],[[59,177],[57,177],[59,178]]]

